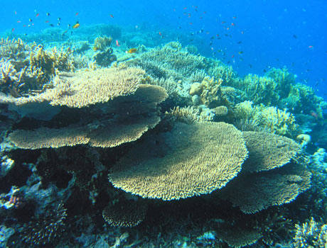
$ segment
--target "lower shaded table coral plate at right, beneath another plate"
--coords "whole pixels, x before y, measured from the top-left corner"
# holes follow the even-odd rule
[[[257,213],[272,205],[290,203],[311,186],[311,174],[299,164],[252,174],[241,174],[219,195],[240,206],[243,213]]]

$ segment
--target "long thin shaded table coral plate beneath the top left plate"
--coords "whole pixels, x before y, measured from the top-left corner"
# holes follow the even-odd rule
[[[92,147],[116,147],[139,139],[149,128],[158,124],[158,116],[129,118],[124,123],[69,126],[66,128],[39,128],[16,130],[9,135],[11,142],[22,149],[58,148],[87,144]]]

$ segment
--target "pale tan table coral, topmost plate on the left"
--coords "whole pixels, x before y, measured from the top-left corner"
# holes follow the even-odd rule
[[[0,101],[17,106],[50,102],[53,106],[82,108],[105,103],[117,96],[134,94],[144,73],[142,69],[126,67],[62,73],[55,77],[53,89],[47,89],[42,94],[20,98],[1,96]]]

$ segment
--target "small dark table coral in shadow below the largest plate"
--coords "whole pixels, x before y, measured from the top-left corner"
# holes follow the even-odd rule
[[[144,220],[146,211],[147,205],[143,201],[129,200],[107,205],[102,216],[109,225],[134,227]]]

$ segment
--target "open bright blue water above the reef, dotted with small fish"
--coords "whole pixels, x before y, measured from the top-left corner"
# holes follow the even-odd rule
[[[323,0],[17,0],[2,1],[0,15],[0,32],[6,33],[39,33],[51,23],[65,29],[79,21],[81,26],[142,26],[157,32],[158,38],[173,31],[188,35],[190,44],[199,35],[203,43],[195,45],[200,53],[231,64],[240,76],[286,66],[298,81],[327,98],[327,3]],[[175,36],[172,40],[178,40]]]

